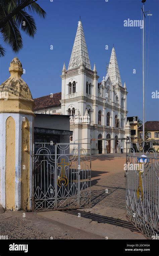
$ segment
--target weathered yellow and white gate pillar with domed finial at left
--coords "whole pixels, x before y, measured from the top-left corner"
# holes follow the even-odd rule
[[[34,101],[18,58],[9,72],[0,85],[0,204],[13,211],[31,210]]]

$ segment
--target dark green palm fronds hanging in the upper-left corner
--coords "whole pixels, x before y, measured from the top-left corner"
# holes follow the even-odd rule
[[[36,2],[37,0],[0,0],[0,33],[3,41],[15,53],[23,47],[20,29],[30,37],[36,34],[35,20],[29,13],[37,13],[45,18],[46,12]],[[0,57],[4,55],[5,49],[0,44]]]

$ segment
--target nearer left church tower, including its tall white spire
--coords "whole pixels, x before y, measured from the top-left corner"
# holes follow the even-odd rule
[[[91,69],[85,35],[81,20],[66,70],[62,69],[61,113],[70,115],[70,129],[73,130],[73,141],[90,138],[90,124],[98,110],[93,107],[93,99],[98,97],[97,70]],[[77,131],[75,132],[75,129]],[[85,140],[85,142],[89,142]]]

